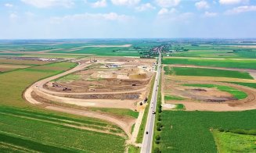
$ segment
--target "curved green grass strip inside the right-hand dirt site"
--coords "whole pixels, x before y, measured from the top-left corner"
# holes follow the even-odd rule
[[[232,94],[234,98],[236,99],[243,99],[247,98],[247,94],[243,91],[237,90],[233,87],[228,86],[221,86],[221,85],[215,85],[215,84],[183,84],[185,86],[191,86],[191,87],[217,87],[219,91],[225,91],[229,92],[229,94]]]

